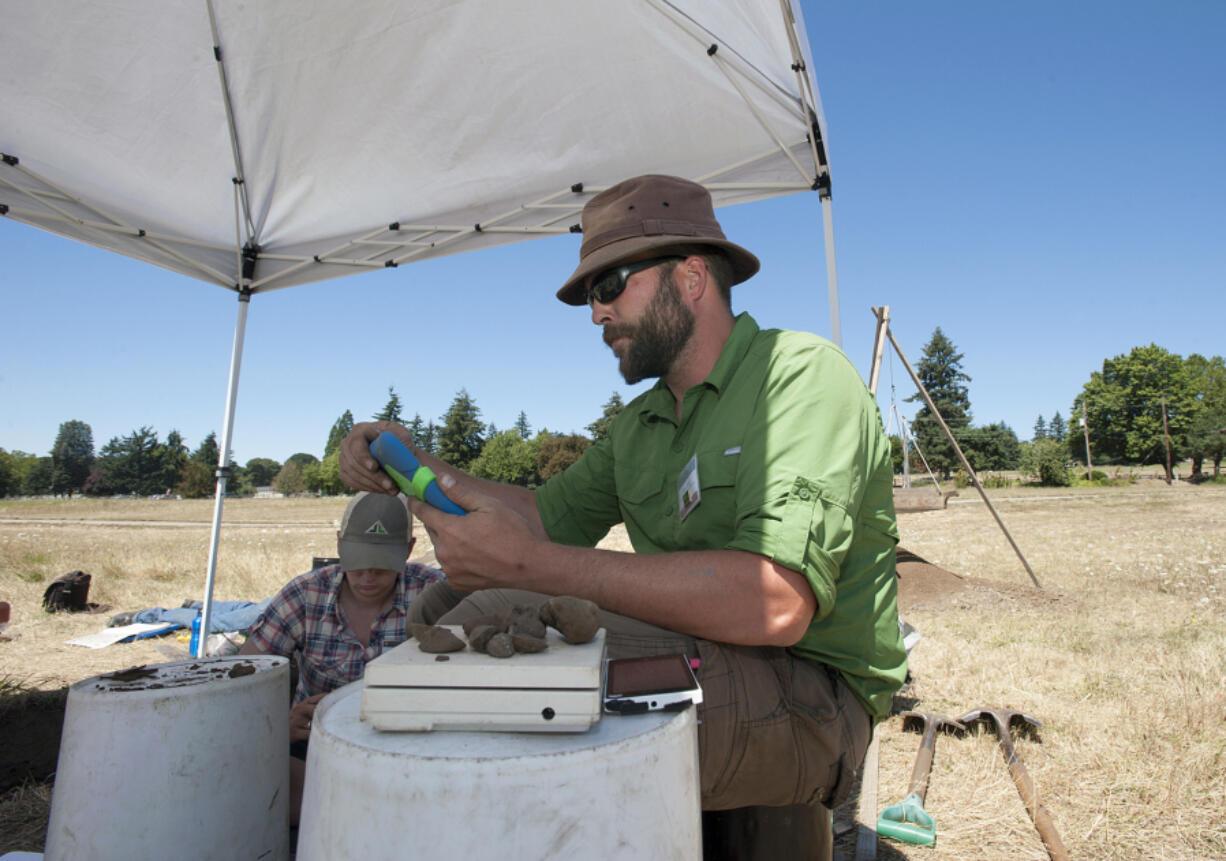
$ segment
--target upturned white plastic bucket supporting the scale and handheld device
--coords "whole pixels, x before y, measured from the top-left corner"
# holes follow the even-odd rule
[[[587,732],[379,732],[362,684],[315,711],[298,860],[699,859],[694,709]]]

